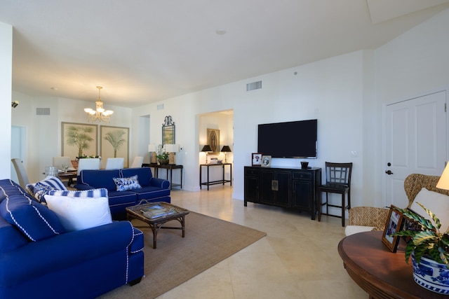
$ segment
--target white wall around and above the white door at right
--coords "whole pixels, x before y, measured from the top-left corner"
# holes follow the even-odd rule
[[[449,9],[446,9],[376,50],[375,111],[380,124],[379,111],[385,104],[449,87],[448,29]],[[382,152],[381,145],[376,142],[376,151]],[[383,178],[386,161],[377,160],[377,165],[382,165],[378,173]],[[384,190],[383,185],[377,186],[377,190]]]

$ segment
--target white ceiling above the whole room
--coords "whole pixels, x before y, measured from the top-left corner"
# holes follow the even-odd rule
[[[107,108],[374,49],[448,7],[449,0],[0,0],[0,22],[14,28],[13,90],[94,102],[101,85]]]

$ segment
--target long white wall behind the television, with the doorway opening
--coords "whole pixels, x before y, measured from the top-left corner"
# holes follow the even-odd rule
[[[257,151],[257,125],[289,120],[319,120],[319,158],[310,165],[323,167],[326,160],[354,162],[353,198],[361,202],[363,176],[363,52],[349,53],[302,67],[248,78],[217,88],[148,104],[134,109],[151,114],[150,127],[157,127],[160,140],[161,120],[171,115],[176,122],[176,142],[185,153],[185,188],[199,185],[199,143],[204,127],[199,116],[213,111],[234,110],[234,194],[243,200],[243,167],[250,165]],[[297,75],[294,74],[297,72]],[[246,83],[262,81],[261,90],[246,92]],[[156,109],[164,104],[164,110]],[[300,132],[297,133],[300,138]],[[357,151],[358,157],[351,157]],[[192,153],[193,152],[193,153]],[[181,163],[180,163],[181,164]],[[300,165],[300,159],[273,159],[273,166]]]

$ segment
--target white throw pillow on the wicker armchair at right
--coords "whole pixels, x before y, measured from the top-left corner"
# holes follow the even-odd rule
[[[441,228],[440,230],[444,232],[449,226],[449,196],[437,193],[434,191],[429,191],[426,188],[422,188],[420,193],[418,193],[413,200],[413,204],[410,209],[417,214],[420,214],[424,218],[431,220],[430,216],[420,207],[419,202],[426,209],[429,209],[434,213],[438,219],[440,219]],[[433,223],[433,222],[432,222]]]

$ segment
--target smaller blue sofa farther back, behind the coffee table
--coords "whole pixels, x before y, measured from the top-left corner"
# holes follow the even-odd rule
[[[117,191],[114,178],[138,176],[142,188]],[[109,207],[112,218],[126,219],[126,207],[147,202],[170,202],[170,181],[154,178],[150,167],[81,170],[74,186],[77,190],[106,188],[109,195]]]

